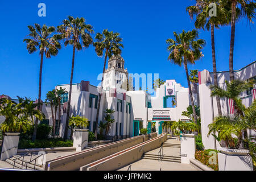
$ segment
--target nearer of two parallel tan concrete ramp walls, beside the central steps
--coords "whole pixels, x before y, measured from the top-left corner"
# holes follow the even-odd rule
[[[167,140],[167,134],[139,143],[116,154],[106,156],[103,159],[86,164],[80,171],[113,171],[122,168],[142,158],[144,152],[154,150]]]

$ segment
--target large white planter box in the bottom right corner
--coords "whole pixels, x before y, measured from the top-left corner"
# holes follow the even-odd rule
[[[253,161],[249,150],[218,147],[219,171],[253,171]]]

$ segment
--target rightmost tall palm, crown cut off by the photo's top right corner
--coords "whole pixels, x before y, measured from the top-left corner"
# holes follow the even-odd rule
[[[230,81],[234,80],[234,69],[233,69],[233,55],[234,55],[234,38],[236,30],[236,15],[237,8],[241,11],[240,18],[246,18],[249,23],[253,22],[255,17],[255,0],[225,0],[231,2],[232,18],[231,18],[231,37],[230,37],[230,49],[229,49],[229,77]],[[224,3],[225,3],[224,1]]]

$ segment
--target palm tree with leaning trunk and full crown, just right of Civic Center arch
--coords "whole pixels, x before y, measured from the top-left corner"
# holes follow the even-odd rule
[[[188,89],[189,89],[189,97],[191,100],[191,105],[193,109],[193,118],[195,122],[197,120],[196,117],[196,109],[193,101],[191,84],[189,81],[188,75],[188,64],[195,64],[196,60],[199,60],[203,57],[203,53],[201,49],[205,46],[205,40],[197,39],[198,32],[196,30],[183,32],[181,34],[177,34],[174,32],[175,39],[167,39],[166,43],[168,44],[168,51],[170,51],[170,55],[168,56],[168,60],[171,63],[177,64],[181,66],[184,65],[185,73],[188,81]]]

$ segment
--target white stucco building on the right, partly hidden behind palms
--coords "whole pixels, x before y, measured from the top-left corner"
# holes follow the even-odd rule
[[[256,61],[234,71],[236,80],[256,79]],[[229,81],[229,71],[217,72],[218,86],[225,89],[225,80]],[[200,113],[201,113],[201,132],[202,141],[205,149],[216,148],[219,146],[218,142],[212,135],[207,137],[209,132],[208,125],[213,122],[214,117],[218,115],[216,97],[210,97],[209,85],[213,85],[213,73],[206,69],[199,72],[199,96],[200,96]],[[251,105],[256,97],[256,85],[246,92],[241,94],[242,103],[248,107]],[[234,114],[233,101],[220,98],[222,115]],[[255,135],[253,130],[248,131],[249,136]],[[217,146],[216,146],[217,145]]]

